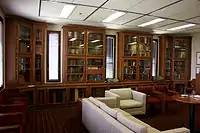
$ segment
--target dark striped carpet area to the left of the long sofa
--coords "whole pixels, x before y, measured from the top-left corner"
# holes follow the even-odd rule
[[[26,133],[87,133],[77,105],[32,107]]]

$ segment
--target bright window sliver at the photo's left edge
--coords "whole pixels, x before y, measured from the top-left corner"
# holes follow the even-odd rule
[[[0,17],[0,86],[3,85],[3,19]]]

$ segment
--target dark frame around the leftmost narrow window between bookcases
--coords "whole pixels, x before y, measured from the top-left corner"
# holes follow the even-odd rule
[[[58,79],[49,79],[49,34],[58,34]],[[61,82],[61,31],[47,30],[47,45],[46,45],[46,82]]]

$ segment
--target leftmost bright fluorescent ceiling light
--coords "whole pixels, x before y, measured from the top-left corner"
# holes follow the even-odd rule
[[[65,5],[62,9],[62,12],[60,14],[61,18],[68,18],[69,15],[72,13],[76,6],[75,5]]]

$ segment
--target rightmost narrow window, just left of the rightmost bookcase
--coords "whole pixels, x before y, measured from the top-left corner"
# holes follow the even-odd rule
[[[153,39],[152,76],[157,76],[158,65],[158,39]]]

